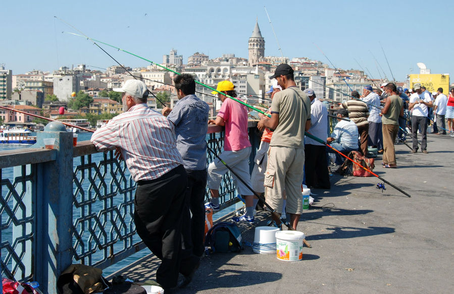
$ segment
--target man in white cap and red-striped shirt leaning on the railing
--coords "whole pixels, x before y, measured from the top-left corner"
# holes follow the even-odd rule
[[[156,281],[177,285],[181,226],[187,177],[175,145],[173,124],[146,105],[145,83],[128,80],[122,88],[124,113],[91,136],[98,151],[117,149],[137,182],[134,223],[143,243],[161,259]],[[193,270],[193,269],[190,269]],[[189,273],[189,270],[183,274]],[[166,290],[167,292],[167,290]]]

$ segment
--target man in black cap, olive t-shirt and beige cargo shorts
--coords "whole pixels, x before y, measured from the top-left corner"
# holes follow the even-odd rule
[[[296,229],[302,213],[301,183],[303,178],[304,132],[311,127],[311,101],[296,87],[293,69],[286,64],[276,68],[271,79],[276,79],[282,91],[271,103],[271,119],[262,117],[259,130],[273,129],[265,173],[265,197],[276,211],[282,211],[285,189],[290,224]]]

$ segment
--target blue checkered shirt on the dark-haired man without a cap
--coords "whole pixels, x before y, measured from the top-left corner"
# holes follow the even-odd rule
[[[167,119],[175,125],[177,149],[186,169],[207,168],[208,104],[186,95],[175,104]]]

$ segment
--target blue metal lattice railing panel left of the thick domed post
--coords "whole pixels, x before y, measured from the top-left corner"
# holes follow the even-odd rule
[[[31,187],[34,174],[30,165],[0,169],[0,250],[3,277],[29,280],[33,276],[30,260],[35,252],[33,227],[35,214]],[[16,175],[16,177],[14,176]]]

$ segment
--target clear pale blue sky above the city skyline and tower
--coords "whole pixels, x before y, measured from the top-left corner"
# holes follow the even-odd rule
[[[162,63],[163,54],[172,48],[183,55],[183,63],[197,51],[210,58],[225,53],[247,58],[247,41],[256,19],[265,38],[266,56],[281,56],[273,27],[289,58],[309,57],[331,68],[365,70],[374,79],[405,81],[408,74],[419,73],[419,62],[433,74],[454,74],[454,22],[450,16],[454,2],[449,0],[2,0],[2,11],[0,64],[13,75],[79,64],[116,65],[93,42],[68,32],[155,63]],[[121,64],[133,68],[148,65],[101,46]]]

